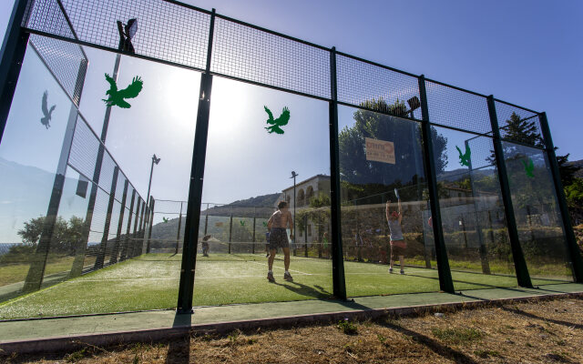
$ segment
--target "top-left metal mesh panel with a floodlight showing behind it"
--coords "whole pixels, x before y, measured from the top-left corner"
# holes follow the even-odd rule
[[[82,42],[117,50],[117,22],[137,18],[138,31],[131,41],[136,54],[204,69],[210,27],[206,12],[160,0],[63,0],[62,4]],[[36,0],[30,14],[28,28],[74,39],[56,0]]]

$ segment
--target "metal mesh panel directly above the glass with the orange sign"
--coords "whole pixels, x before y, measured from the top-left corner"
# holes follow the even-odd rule
[[[414,76],[342,55],[336,56],[336,69],[340,102],[365,106],[366,102],[384,100],[387,106],[399,103],[404,104],[408,110],[410,107],[406,101],[414,96],[419,97],[419,83]],[[382,112],[390,111],[384,107],[376,108]],[[403,108],[393,110],[404,111]],[[420,110],[415,112],[417,118],[421,118]]]

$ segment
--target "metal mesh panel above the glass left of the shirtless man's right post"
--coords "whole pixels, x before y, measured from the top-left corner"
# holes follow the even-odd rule
[[[330,97],[330,53],[218,17],[210,70],[302,94]]]

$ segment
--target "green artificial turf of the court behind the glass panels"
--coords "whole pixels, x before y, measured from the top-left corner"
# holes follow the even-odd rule
[[[36,318],[175,308],[180,255],[149,254],[69,279],[0,304],[0,319]],[[388,274],[387,266],[344,262],[349,296],[374,296],[439,290],[435,269],[405,267],[405,275]],[[274,264],[275,283],[268,283],[262,254],[199,256],[194,305],[329,298],[332,260],[292,257],[294,281],[283,280],[281,256]],[[398,266],[395,267],[398,271]],[[455,289],[516,287],[516,278],[453,271]],[[537,281],[534,284],[556,283]]]

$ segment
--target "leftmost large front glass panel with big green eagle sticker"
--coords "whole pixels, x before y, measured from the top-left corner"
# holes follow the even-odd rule
[[[178,223],[180,209],[167,211],[178,212],[176,217],[156,211],[147,215],[144,197],[153,166],[150,194],[157,205],[159,200],[188,199],[199,73],[121,56],[118,79],[107,79],[104,74],[114,74],[118,55],[92,48],[85,50],[90,87],[86,85],[84,89],[64,176],[57,228],[43,260],[45,270],[40,274],[44,278],[43,287],[62,284],[7,302],[0,307],[2,319],[176,306],[181,260],[181,252],[176,249],[179,228],[167,229],[171,232],[166,234],[164,227],[169,223],[161,217],[172,217],[175,220],[172,223]],[[112,90],[116,87],[133,89],[136,95],[118,99],[107,114],[104,99],[112,101]],[[49,108],[56,105],[50,126],[41,120],[44,94]],[[31,97],[38,100],[37,109],[30,107]],[[24,257],[31,257],[38,234],[31,235],[32,240],[24,244],[20,243],[18,231],[26,227],[25,222],[40,221],[46,215],[70,108],[70,101],[29,48],[0,145],[2,168],[19,171],[0,173],[2,178],[13,177],[11,181],[2,181],[6,186],[3,190],[13,199],[17,197],[16,208],[5,208],[10,206],[7,197],[3,197],[6,203],[0,208],[6,224],[6,228],[0,227],[0,237],[5,236],[0,243],[7,244],[5,249],[0,248],[0,289],[13,285],[0,290],[2,300],[20,294],[11,294],[11,289],[15,292],[24,287],[31,266]],[[105,121],[108,127],[104,148],[99,138]],[[103,136],[106,137],[105,133]],[[100,153],[103,161],[96,174]],[[152,165],[154,155],[158,162]],[[112,189],[116,167],[117,186]],[[96,175],[98,181],[93,180]],[[122,206],[126,178],[128,192]],[[22,193],[9,191],[8,182]],[[112,193],[114,199],[110,198]],[[93,213],[87,214],[91,206]],[[159,207],[163,207],[161,202]],[[183,214],[185,210],[186,205]],[[87,217],[91,217],[90,221]],[[154,224],[151,236],[149,217]],[[158,235],[153,241],[155,232]],[[15,244],[17,248],[11,248]],[[16,250],[20,260],[15,254],[8,254]],[[11,256],[12,260],[6,260]],[[8,267],[6,271],[2,270],[4,267]]]

